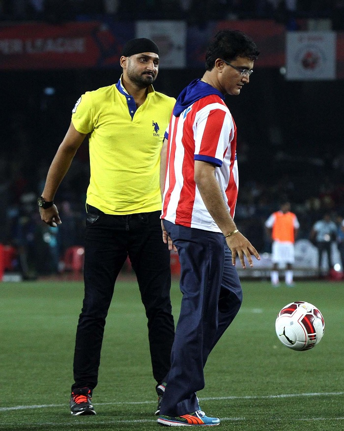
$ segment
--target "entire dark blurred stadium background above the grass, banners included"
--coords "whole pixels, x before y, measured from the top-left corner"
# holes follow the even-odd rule
[[[235,220],[265,256],[250,275],[264,277],[271,263],[264,221],[284,196],[301,225],[296,267],[313,274],[313,224],[330,213],[340,232],[344,216],[344,1],[0,0],[2,279],[59,275],[71,250],[80,270],[87,142],[56,196],[61,226],[41,222],[36,199],[76,100],[119,79],[124,42],[158,43],[154,88],[176,97],[201,77],[206,44],[224,28],[247,32],[261,52],[250,86],[226,98],[238,127]]]

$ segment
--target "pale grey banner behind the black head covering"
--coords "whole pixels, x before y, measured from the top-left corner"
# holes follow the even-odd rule
[[[160,67],[184,69],[186,67],[185,21],[137,21],[136,36],[148,37],[159,47]]]

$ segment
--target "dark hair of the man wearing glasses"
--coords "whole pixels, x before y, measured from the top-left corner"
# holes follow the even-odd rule
[[[212,70],[216,59],[231,62],[237,57],[247,57],[255,61],[258,55],[257,45],[247,34],[239,30],[221,30],[208,46],[205,67],[206,70]]]

